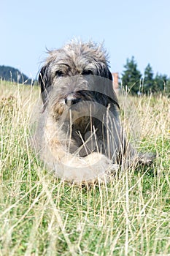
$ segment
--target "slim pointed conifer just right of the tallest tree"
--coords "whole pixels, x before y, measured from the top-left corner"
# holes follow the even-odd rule
[[[148,94],[154,89],[154,78],[153,78],[152,67],[150,64],[147,64],[147,67],[144,69],[144,86],[143,90],[145,94]]]

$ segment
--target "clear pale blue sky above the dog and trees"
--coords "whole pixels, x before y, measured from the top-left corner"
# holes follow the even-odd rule
[[[72,38],[104,43],[110,69],[120,77],[134,56],[143,73],[170,77],[169,0],[1,0],[0,65],[36,78],[46,48],[61,48]]]

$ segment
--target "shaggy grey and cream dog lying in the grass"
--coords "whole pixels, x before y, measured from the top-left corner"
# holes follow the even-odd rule
[[[43,110],[34,145],[55,176],[108,181],[117,170],[152,163],[152,154],[139,154],[125,138],[101,45],[72,41],[48,51],[39,84]]]

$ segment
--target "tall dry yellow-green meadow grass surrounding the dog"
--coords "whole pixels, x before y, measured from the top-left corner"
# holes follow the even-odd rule
[[[170,255],[170,99],[120,99],[134,143],[158,157],[88,189],[53,177],[31,152],[37,98],[36,86],[0,83],[0,255]]]

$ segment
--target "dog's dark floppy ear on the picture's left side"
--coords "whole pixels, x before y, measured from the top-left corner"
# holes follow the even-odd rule
[[[42,102],[44,105],[47,103],[48,91],[50,86],[49,81],[49,63],[45,64],[39,72],[39,84],[41,86]]]

